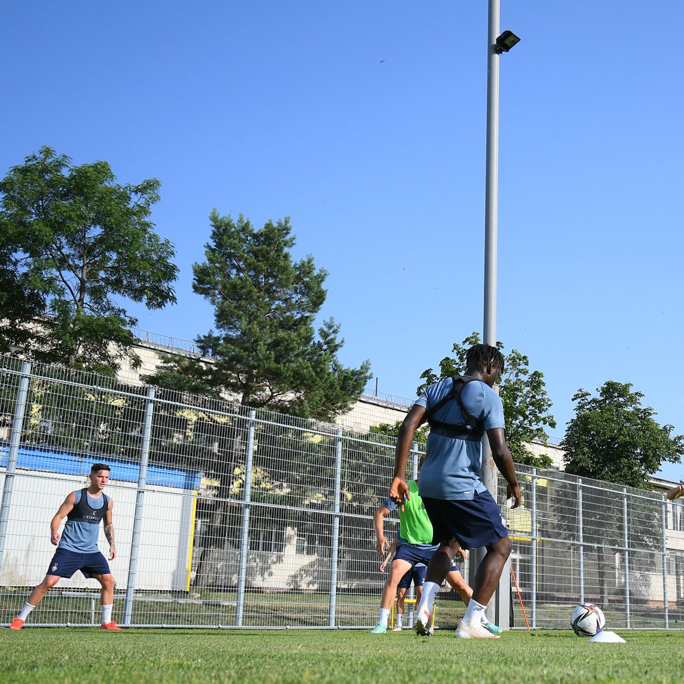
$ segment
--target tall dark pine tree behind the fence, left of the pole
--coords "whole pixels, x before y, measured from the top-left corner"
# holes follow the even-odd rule
[[[289,219],[254,230],[214,209],[206,261],[193,265],[193,289],[214,306],[216,331],[196,342],[213,363],[165,356],[149,382],[179,391],[227,391],[252,408],[331,419],[348,410],[370,378],[370,364],[346,368],[339,326],[315,315],[326,299],[327,273],[309,255],[293,261]]]

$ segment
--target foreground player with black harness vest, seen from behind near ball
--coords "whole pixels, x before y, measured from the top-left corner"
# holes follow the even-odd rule
[[[505,443],[503,404],[492,390],[503,371],[503,356],[496,347],[475,345],[466,354],[466,375],[440,380],[428,387],[406,415],[399,430],[395,473],[389,498],[397,504],[413,496],[404,479],[406,461],[415,431],[430,423],[427,454],[419,492],[432,521],[439,549],[425,573],[423,596],[415,629],[430,633],[430,606],[451,567],[456,540],[463,549],[486,547],[473,587],[473,597],[458,624],[456,636],[464,639],[497,638],[482,625],[482,612],[494,593],[511,551],[501,511],[479,477],[482,436],[486,431],[492,457],[508,482],[507,496],[520,505],[521,493],[513,460]]]

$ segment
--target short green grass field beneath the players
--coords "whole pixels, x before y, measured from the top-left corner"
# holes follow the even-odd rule
[[[590,644],[568,631],[500,640],[410,631],[0,630],[0,681],[570,682],[681,681],[684,633],[622,631]]]

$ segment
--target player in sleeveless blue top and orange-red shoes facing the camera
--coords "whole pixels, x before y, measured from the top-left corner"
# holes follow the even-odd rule
[[[10,629],[21,629],[29,613],[42,601],[60,577],[71,577],[77,570],[85,577],[94,577],[102,586],[102,624],[100,629],[120,631],[111,619],[114,605],[114,577],[107,560],[97,547],[100,521],[105,525],[105,537],[109,542],[109,560],[116,558],[114,525],[111,512],[114,501],[103,493],[109,482],[109,466],[96,463],[90,469],[90,486],[71,492],[50,523],[50,542],[57,547],[48,566],[47,575],[31,592],[21,612],[12,620]],[[60,523],[66,517],[66,525],[60,536]]]

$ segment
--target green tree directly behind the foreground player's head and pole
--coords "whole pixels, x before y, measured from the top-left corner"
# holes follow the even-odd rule
[[[439,374],[428,368],[421,374],[425,380],[417,389],[421,395],[423,390],[453,375],[462,375],[466,370],[466,353],[473,345],[479,344],[479,334],[473,332],[462,344],[453,345],[452,356],[446,356],[439,363]],[[503,350],[503,344],[497,342],[497,348]],[[551,399],[547,395],[544,375],[540,371],[529,371],[529,358],[521,352],[512,350],[504,354],[505,372],[499,378],[499,396],[503,403],[503,417],[506,421],[506,443],[516,463],[547,468],[551,458],[546,455],[535,456],[527,449],[527,444],[540,440],[548,444],[548,436],[544,426],[555,428],[556,422],[551,410]]]

